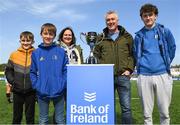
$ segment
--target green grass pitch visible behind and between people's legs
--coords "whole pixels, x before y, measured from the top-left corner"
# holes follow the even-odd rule
[[[132,88],[131,88],[131,97],[132,97],[132,113],[133,113],[133,123],[134,124],[143,124],[143,114],[142,114],[142,107],[140,103],[140,99],[137,94],[137,87],[136,82],[132,81]],[[12,123],[12,103],[9,104],[6,95],[5,95],[5,83],[0,81],[0,124],[11,124]],[[118,124],[121,123],[121,111],[120,105],[118,102],[118,97],[116,93],[116,121]],[[49,123],[52,122],[52,115],[53,115],[53,105],[50,104],[50,118]],[[35,113],[35,123],[38,124],[38,105],[36,104],[36,113]],[[180,124],[180,81],[174,81],[173,84],[173,94],[172,94],[172,101],[170,106],[170,117],[171,117],[171,124]],[[159,112],[157,109],[157,104],[155,102],[155,107],[153,111],[153,123],[159,124]],[[22,124],[25,124],[25,118],[23,115]]]

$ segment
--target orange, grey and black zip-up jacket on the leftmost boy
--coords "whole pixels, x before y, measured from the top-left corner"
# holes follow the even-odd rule
[[[25,50],[18,48],[10,55],[5,69],[7,81],[13,86],[15,93],[33,92],[30,80],[31,54],[34,48]]]

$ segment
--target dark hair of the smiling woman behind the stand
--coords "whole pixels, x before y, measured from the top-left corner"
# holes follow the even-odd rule
[[[64,32],[65,32],[66,30],[70,30],[70,31],[72,32],[72,42],[71,42],[71,44],[76,43],[76,37],[75,37],[74,32],[73,32],[73,30],[72,30],[71,27],[66,27],[66,28],[64,28],[64,29],[59,33],[57,40],[58,40],[59,42],[63,42],[63,41],[62,41],[62,38],[63,38]]]

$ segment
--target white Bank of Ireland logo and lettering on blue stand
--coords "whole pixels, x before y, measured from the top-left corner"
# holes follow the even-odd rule
[[[96,92],[84,92],[84,101],[96,101]],[[96,105],[92,103],[71,104],[70,122],[81,124],[107,124],[109,122],[110,104]]]

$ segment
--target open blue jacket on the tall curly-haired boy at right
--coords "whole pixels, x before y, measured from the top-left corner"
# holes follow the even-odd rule
[[[133,53],[136,60],[137,73],[140,74],[140,59],[143,54],[144,28],[136,32]],[[158,34],[158,44],[161,56],[163,57],[166,70],[170,74],[170,64],[175,57],[176,44],[171,31],[163,25],[156,23],[155,32]]]

